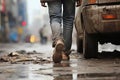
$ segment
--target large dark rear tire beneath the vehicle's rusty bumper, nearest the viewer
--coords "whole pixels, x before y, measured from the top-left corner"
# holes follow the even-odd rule
[[[98,42],[96,37],[89,35],[84,31],[83,57],[89,59],[96,58],[97,56],[98,56]]]

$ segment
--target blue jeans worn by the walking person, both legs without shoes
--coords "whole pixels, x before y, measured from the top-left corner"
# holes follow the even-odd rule
[[[73,21],[75,17],[75,0],[56,0],[53,2],[48,2],[48,9],[53,42],[57,38],[63,38],[65,43],[65,51],[69,51],[72,45]]]

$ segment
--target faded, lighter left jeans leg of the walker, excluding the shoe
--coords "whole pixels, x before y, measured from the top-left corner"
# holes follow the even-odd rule
[[[61,1],[48,2],[50,25],[52,30],[53,47],[55,41],[63,38],[61,21],[62,21],[62,4]]]

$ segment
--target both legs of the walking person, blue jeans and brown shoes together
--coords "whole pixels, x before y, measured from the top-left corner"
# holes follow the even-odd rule
[[[75,1],[56,0],[48,2],[48,9],[53,35],[53,47],[55,46],[53,61],[59,63],[61,60],[69,60],[69,52],[72,45],[73,21],[75,17]]]

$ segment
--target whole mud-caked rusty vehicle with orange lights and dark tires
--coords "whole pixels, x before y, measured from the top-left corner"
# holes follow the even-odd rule
[[[82,0],[77,12],[77,51],[98,56],[98,41],[120,45],[120,0]]]

